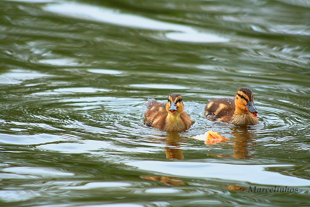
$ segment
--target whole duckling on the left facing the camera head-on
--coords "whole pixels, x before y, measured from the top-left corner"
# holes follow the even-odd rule
[[[180,94],[168,96],[167,103],[160,103],[149,98],[146,103],[144,124],[156,127],[162,131],[185,131],[192,126],[192,120],[184,110],[183,99]]]

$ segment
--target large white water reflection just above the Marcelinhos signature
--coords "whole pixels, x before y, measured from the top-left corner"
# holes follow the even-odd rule
[[[134,161],[126,165],[140,170],[190,178],[217,178],[262,185],[310,186],[310,180],[266,171],[266,168],[290,167],[293,165],[245,165],[199,162]]]

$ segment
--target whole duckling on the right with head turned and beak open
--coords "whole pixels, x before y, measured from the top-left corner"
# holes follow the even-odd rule
[[[239,88],[235,99],[219,98],[209,101],[204,115],[209,120],[222,121],[236,126],[258,124],[253,92],[246,87]]]

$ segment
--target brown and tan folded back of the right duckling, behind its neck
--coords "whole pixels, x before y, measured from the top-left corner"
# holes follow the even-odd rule
[[[219,98],[209,101],[205,107],[204,115],[210,120],[222,120],[232,116],[235,112],[235,100]]]

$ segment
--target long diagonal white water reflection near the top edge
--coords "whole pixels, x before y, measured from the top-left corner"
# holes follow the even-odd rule
[[[99,6],[91,6],[79,3],[59,3],[48,4],[43,7],[45,11],[50,11],[63,16],[70,16],[73,18],[99,21],[113,25],[120,25],[125,27],[176,31],[168,32],[166,37],[176,41],[186,42],[228,42],[228,38],[221,38],[214,34],[206,34],[193,29],[186,25],[177,25],[168,22],[149,19],[142,16],[132,14],[123,14],[119,10],[112,10]]]

